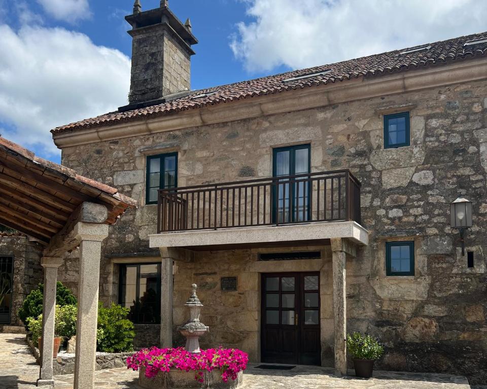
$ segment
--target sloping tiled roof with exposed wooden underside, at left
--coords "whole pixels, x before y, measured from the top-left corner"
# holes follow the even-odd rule
[[[0,137],[0,223],[47,245],[84,202],[104,205],[113,224],[137,202],[117,189],[36,157]]]

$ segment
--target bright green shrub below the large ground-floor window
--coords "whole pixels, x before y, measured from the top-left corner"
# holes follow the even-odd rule
[[[129,309],[112,303],[110,308],[98,306],[98,351],[121,353],[133,350],[135,332],[133,323],[127,319]]]

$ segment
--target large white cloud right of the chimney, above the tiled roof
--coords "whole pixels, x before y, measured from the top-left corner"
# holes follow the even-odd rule
[[[305,68],[485,30],[475,0],[244,0],[231,42],[248,71]]]

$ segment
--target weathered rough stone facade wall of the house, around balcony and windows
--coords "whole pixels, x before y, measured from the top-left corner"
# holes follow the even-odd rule
[[[380,367],[456,372],[481,382],[487,381],[486,95],[485,82],[451,85],[69,147],[62,163],[140,202],[111,227],[104,247],[106,254],[134,253],[149,251],[148,235],[156,232],[156,206],[144,206],[147,154],[177,150],[179,186],[185,186],[269,177],[273,147],[309,143],[312,171],[349,168],[362,183],[362,224],[370,245],[347,261],[349,330],[368,331],[385,342]],[[404,110],[411,114],[411,145],[384,149],[380,108],[401,104],[410,104]],[[448,204],[459,195],[473,201],[467,250],[474,252],[474,268],[467,268],[459,234],[449,227]],[[415,242],[413,277],[386,277],[385,242],[398,239]],[[236,252],[218,255],[242,258]],[[178,266],[182,271],[187,265]],[[102,265],[100,293],[110,298],[112,289],[103,288],[110,278],[105,269],[109,266]],[[185,288],[204,277],[191,276],[190,269],[185,274]],[[222,298],[233,299],[227,296]],[[186,298],[178,292],[176,306]],[[234,302],[228,304],[232,312]],[[178,310],[175,318],[181,319]],[[322,309],[322,320],[332,315]],[[206,324],[215,332],[208,339],[227,328],[213,319]],[[331,339],[332,327],[322,330]]]

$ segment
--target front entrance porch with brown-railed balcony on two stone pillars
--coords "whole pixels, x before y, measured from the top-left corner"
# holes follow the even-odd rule
[[[201,292],[203,304],[204,297],[214,300],[208,309],[216,313],[207,319],[215,322],[214,330],[225,327],[242,334],[237,339],[210,335],[215,341],[238,341],[251,361],[268,362],[272,353],[265,349],[269,341],[264,334],[296,338],[296,346],[290,348],[303,349],[302,355],[290,355],[290,361],[316,361],[319,353],[318,364],[330,365],[324,351],[329,348],[335,375],[346,375],[346,259],[368,245],[368,231],[360,225],[360,182],[350,171],[161,190],[158,234],[149,238],[150,247],[161,252],[162,295],[168,296],[161,303],[162,346],[172,344],[173,324],[182,320],[178,296],[186,284],[199,282],[208,290],[206,295]],[[279,260],[292,253],[300,258]],[[318,255],[311,258],[309,253]],[[274,260],[262,254],[273,254]],[[268,278],[291,282],[292,289],[266,289]],[[226,279],[233,280],[234,289],[224,289]],[[305,286],[308,281],[319,285],[310,289]],[[279,295],[279,302],[266,306],[271,294]],[[284,303],[284,297],[292,301]],[[227,315],[220,308],[224,305],[229,306]],[[319,323],[312,316],[314,309]],[[233,314],[241,323],[225,318]],[[280,318],[269,319],[271,314]],[[212,328],[212,323],[205,324]],[[304,349],[312,339],[320,342],[321,351]]]

